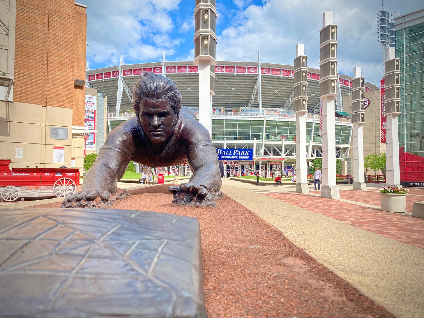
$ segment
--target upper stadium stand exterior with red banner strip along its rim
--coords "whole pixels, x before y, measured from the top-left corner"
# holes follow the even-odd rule
[[[260,66],[259,66],[260,65]],[[132,109],[132,89],[144,71],[161,73],[169,77],[178,87],[183,105],[198,108],[199,76],[197,66],[187,61],[166,61],[121,64],[119,67],[106,67],[86,71],[89,87],[98,89],[107,97],[109,108],[114,112]],[[127,73],[127,75],[125,75]],[[128,73],[130,75],[128,75]],[[319,70],[308,69],[308,111],[319,109]],[[119,75],[117,75],[119,74]],[[258,62],[218,61],[215,65],[215,95],[212,96],[212,108],[279,108],[293,110],[293,66]],[[318,78],[318,79],[317,79]],[[351,93],[353,78],[339,74],[339,96],[335,109],[343,111],[341,98]],[[120,85],[121,81],[121,85]],[[378,89],[371,83],[365,83],[366,90]],[[118,87],[122,87],[118,89]],[[119,92],[120,90],[120,92]],[[123,94],[125,92],[126,94]],[[120,102],[117,100],[120,99]]]

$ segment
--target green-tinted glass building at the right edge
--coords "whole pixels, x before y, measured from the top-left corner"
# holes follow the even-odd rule
[[[395,34],[401,61],[399,148],[424,157],[424,9],[396,17]]]

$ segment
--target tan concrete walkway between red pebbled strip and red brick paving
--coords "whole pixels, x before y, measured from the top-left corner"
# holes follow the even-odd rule
[[[221,189],[394,315],[424,317],[424,250],[258,193],[294,186],[227,180]]]

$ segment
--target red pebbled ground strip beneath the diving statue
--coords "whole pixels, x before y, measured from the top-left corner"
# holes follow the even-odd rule
[[[113,208],[199,220],[209,318],[394,317],[228,196],[217,208],[173,207],[167,187],[130,190]]]

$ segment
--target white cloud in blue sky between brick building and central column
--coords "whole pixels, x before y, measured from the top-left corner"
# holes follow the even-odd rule
[[[87,59],[119,63],[124,59],[157,59],[183,42],[170,40],[175,25],[170,14],[181,0],[83,1],[87,6]],[[139,47],[138,47],[139,46]]]

